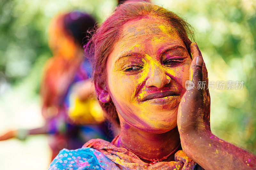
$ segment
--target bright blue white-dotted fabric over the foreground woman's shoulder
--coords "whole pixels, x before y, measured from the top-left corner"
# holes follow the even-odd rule
[[[62,149],[53,159],[48,170],[75,170],[79,167],[83,167],[84,169],[102,169],[95,156],[95,152],[98,151],[87,147],[76,150]]]

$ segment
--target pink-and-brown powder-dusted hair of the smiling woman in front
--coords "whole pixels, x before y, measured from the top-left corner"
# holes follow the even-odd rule
[[[189,46],[191,41],[188,36],[190,35],[193,38],[193,32],[191,31],[192,27],[175,13],[155,4],[145,2],[121,4],[116,7],[113,14],[110,15],[92,34],[91,39],[84,46],[86,55],[91,56],[92,58],[92,78],[95,86],[96,83],[98,85],[107,83],[107,57],[120,38],[123,25],[134,19],[147,16],[159,17],[174,27],[185,43],[188,52],[190,51]],[[98,96],[99,92],[97,92],[97,89],[96,93]],[[105,117],[114,125],[119,126],[120,122],[117,116],[116,107],[112,100],[110,99],[110,102],[108,103],[100,102],[100,106],[105,111]]]

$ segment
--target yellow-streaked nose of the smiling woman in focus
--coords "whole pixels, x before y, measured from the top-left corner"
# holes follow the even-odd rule
[[[156,64],[152,65],[148,71],[147,87],[156,87],[162,89],[166,84],[171,82],[171,78],[166,75],[166,70]]]

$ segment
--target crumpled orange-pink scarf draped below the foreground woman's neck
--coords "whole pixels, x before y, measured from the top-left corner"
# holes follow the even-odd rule
[[[140,158],[137,155],[128,151],[127,149],[122,147],[116,147],[115,145],[113,145],[114,140],[112,141],[112,143],[109,143],[102,139],[92,139],[85,143],[83,148],[87,147],[98,150],[100,153],[105,155],[109,160],[115,163],[116,166],[121,170],[192,170],[196,166],[196,162],[190,159],[182,150],[175,153],[175,161],[158,162],[156,164],[149,165],[148,163],[145,163],[142,160],[140,160]],[[100,158],[98,158],[98,156],[100,157],[100,155],[95,156],[98,160],[100,160]],[[108,164],[107,162],[105,163]]]

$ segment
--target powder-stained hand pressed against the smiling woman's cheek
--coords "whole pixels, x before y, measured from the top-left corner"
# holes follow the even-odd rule
[[[190,134],[210,132],[210,95],[208,75],[202,54],[195,42],[191,43],[192,62],[189,79],[195,86],[187,90],[181,99],[177,124],[182,139],[188,140]],[[198,85],[205,84],[204,86]]]

